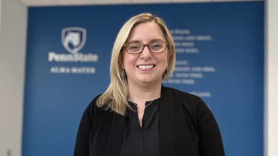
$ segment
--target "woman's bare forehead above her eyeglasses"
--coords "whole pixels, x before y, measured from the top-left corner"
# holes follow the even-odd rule
[[[134,26],[127,41],[132,40],[149,42],[154,39],[164,40],[164,34],[159,25],[155,22],[141,23]]]

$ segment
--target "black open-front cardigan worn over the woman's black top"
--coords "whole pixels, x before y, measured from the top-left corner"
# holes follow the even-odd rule
[[[119,155],[126,117],[96,107],[99,96],[83,113],[74,156]],[[161,88],[159,146],[161,156],[225,155],[218,125],[203,100],[164,86]]]

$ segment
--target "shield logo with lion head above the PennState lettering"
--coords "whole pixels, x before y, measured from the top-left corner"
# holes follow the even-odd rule
[[[86,29],[68,27],[62,30],[62,44],[71,54],[77,54],[86,42]]]

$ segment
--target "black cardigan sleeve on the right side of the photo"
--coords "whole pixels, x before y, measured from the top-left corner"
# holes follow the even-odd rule
[[[224,156],[222,137],[214,115],[201,98],[197,103],[200,156]]]

